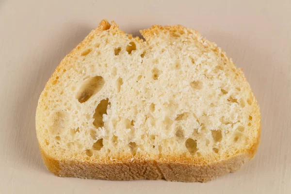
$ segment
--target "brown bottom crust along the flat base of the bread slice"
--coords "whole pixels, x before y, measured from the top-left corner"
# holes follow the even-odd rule
[[[92,162],[71,159],[54,159],[41,147],[41,155],[48,170],[59,177],[76,177],[107,180],[165,179],[168,181],[206,182],[234,172],[251,160],[257,150],[254,145],[246,153],[237,154],[226,161],[197,165],[187,162],[163,160],[124,159],[112,162]]]

